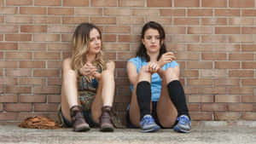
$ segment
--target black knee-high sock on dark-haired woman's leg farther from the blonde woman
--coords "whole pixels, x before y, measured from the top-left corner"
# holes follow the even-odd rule
[[[172,103],[177,108],[177,116],[181,116],[183,114],[189,116],[189,109],[186,104],[182,84],[178,80],[174,80],[167,84],[167,89]]]

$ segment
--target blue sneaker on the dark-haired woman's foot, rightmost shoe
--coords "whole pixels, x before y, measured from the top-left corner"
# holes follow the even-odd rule
[[[189,133],[191,130],[191,122],[188,116],[181,115],[177,118],[177,124],[174,126],[174,130],[182,133]]]

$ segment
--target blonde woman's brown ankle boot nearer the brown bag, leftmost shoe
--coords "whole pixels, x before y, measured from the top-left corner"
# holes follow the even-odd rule
[[[73,106],[70,108],[70,115],[72,118],[73,130],[74,131],[88,131],[90,130],[89,124],[84,120],[82,107]]]

